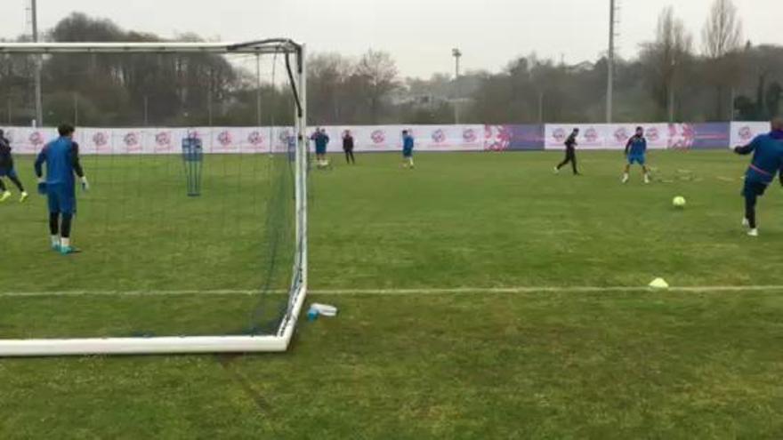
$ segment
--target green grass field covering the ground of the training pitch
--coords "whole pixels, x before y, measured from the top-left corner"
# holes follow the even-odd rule
[[[0,438],[783,437],[781,189],[752,239],[744,159],[654,152],[656,181],[623,186],[618,153],[579,178],[560,158],[335,156],[310,276],[339,317],[285,355],[0,360]],[[0,338],[241,331],[257,297],[111,293],[258,289],[265,163],[215,158],[189,201],[176,164],[105,160],[85,158],[73,258],[40,198],[0,205]],[[699,289],[640,290],[656,276]],[[103,294],[9,295],[73,291]]]

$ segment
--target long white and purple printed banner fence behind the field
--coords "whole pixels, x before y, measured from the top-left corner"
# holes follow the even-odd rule
[[[413,133],[417,151],[559,150],[573,128],[579,148],[619,150],[636,126],[645,129],[653,149],[709,149],[744,144],[770,130],[768,123],[715,124],[529,124],[529,125],[379,125],[329,126],[329,150],[342,150],[350,131],[356,151],[397,151],[403,130]],[[315,130],[316,127],[312,127]],[[291,127],[79,128],[76,140],[85,155],[180,154],[182,139],[197,136],[205,154],[259,154],[287,150]],[[36,154],[54,139],[54,128],[8,127],[5,135],[16,154]]]

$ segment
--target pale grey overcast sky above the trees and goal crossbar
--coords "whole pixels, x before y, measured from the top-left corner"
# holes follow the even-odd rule
[[[619,51],[634,56],[653,37],[658,12],[674,4],[696,37],[713,0],[618,0]],[[0,36],[29,31],[29,0],[0,1]],[[783,44],[781,0],[735,0],[745,36]],[[358,55],[389,51],[405,76],[453,71],[451,49],[464,67],[496,71],[517,55],[576,63],[595,60],[608,45],[609,0],[38,0],[41,28],[69,12],[114,20],[122,28],[161,36],[197,32],[224,41],[290,36],[311,50]],[[775,19],[777,17],[777,19]]]

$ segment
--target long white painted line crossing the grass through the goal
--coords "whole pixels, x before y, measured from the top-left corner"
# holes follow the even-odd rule
[[[516,294],[516,293],[603,293],[603,292],[783,292],[783,285],[704,285],[669,287],[653,289],[646,286],[540,286],[540,287],[455,287],[455,288],[416,288],[416,289],[329,289],[312,290],[310,295],[469,295],[469,294]],[[101,291],[74,290],[61,292],[0,292],[0,298],[48,298],[48,297],[173,297],[173,296],[252,296],[254,290],[182,290],[182,291]],[[273,291],[286,294],[287,291]]]

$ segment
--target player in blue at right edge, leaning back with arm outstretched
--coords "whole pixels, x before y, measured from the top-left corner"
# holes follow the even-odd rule
[[[772,121],[770,133],[757,136],[747,146],[734,148],[734,151],[739,155],[753,153],[753,161],[745,174],[745,187],[742,189],[742,196],[745,197],[745,220],[742,220],[742,224],[750,228],[748,236],[758,236],[756,202],[783,167],[783,118]],[[780,184],[783,185],[783,174],[780,175]]]

